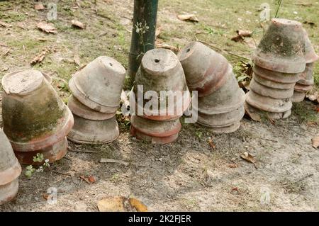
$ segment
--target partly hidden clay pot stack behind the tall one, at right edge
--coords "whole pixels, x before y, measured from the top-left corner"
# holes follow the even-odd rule
[[[295,89],[293,91],[293,102],[301,102],[306,96],[306,92],[313,89],[313,67],[314,63],[319,60],[318,55],[315,54],[313,45],[310,42],[308,33],[303,29],[305,35],[305,58],[306,58],[306,69],[303,73],[300,74],[299,81],[297,81]]]

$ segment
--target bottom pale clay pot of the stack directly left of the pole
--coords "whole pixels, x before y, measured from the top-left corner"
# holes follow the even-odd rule
[[[107,120],[89,120],[74,115],[74,127],[67,139],[79,144],[106,144],[119,135],[116,117]]]

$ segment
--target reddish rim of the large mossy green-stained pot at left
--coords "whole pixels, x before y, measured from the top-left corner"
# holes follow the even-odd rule
[[[57,132],[55,132],[55,134],[36,137],[29,142],[13,142],[12,140],[10,140],[10,142],[13,150],[16,152],[32,152],[44,149],[45,147],[54,145],[56,142],[62,140],[72,129],[73,125],[73,115],[69,108],[65,105],[65,115],[59,120],[59,125],[57,125]]]

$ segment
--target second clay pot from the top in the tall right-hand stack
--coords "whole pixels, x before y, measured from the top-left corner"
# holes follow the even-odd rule
[[[253,77],[259,84],[273,89],[293,89],[300,79],[300,74],[273,72],[254,65]]]

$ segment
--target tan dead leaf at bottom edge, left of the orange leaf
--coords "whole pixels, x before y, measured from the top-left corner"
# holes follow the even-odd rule
[[[122,196],[103,198],[97,203],[100,212],[125,212]]]

